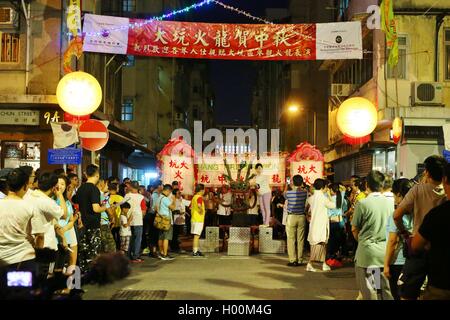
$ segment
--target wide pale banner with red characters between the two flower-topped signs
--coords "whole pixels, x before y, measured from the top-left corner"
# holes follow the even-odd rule
[[[269,176],[272,187],[282,187],[286,180],[286,156],[262,156],[259,160],[256,156],[227,156],[227,163],[230,168],[231,177],[237,178],[241,162],[245,161],[246,166],[241,170],[240,179],[245,179],[245,173],[250,163],[253,167],[261,163],[264,168],[264,174]],[[252,172],[253,173],[253,172]],[[221,187],[227,184],[225,179],[226,168],[223,157],[203,157],[203,162],[198,165],[198,182],[206,187]]]

